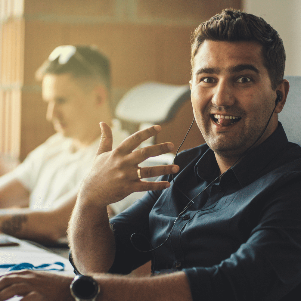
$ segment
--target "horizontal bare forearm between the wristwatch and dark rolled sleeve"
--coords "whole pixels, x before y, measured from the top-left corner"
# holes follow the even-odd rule
[[[191,301],[184,272],[155,277],[128,278],[124,276],[92,275],[101,285],[98,301]]]

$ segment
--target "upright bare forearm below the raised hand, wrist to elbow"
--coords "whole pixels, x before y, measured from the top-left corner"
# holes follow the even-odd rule
[[[115,257],[115,239],[107,207],[84,201],[74,207],[68,238],[74,265],[82,274],[107,272]]]

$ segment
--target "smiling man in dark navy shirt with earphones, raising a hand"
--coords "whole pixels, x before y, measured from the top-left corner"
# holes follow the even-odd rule
[[[300,296],[301,148],[287,141],[277,120],[289,90],[282,41],[262,18],[232,9],[202,23],[193,40],[191,101],[206,144],[182,152],[178,166],[139,168],[145,158],[173,147],[132,152],[160,126],[112,151],[112,133],[101,123],[100,147],[69,225],[73,264],[98,285],[75,278],[74,296],[80,281],[95,284],[84,290],[91,300]],[[140,180],[149,175],[165,176],[155,183]],[[111,219],[112,232],[106,206],[140,190],[150,191]],[[101,274],[126,274],[151,258],[154,273],[162,275]],[[63,300],[53,298],[53,290],[44,292],[51,284],[72,300],[71,281],[23,271],[0,279],[0,296]],[[80,295],[75,299],[88,299]]]

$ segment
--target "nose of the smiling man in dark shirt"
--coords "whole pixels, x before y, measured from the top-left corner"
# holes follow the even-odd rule
[[[214,89],[211,101],[218,107],[232,106],[235,103],[235,97],[233,95],[231,84],[220,80]]]

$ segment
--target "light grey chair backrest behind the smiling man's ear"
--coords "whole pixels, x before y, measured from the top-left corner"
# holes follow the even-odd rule
[[[290,83],[290,91],[283,110],[278,114],[287,139],[301,146],[301,124],[299,117],[301,113],[301,76],[284,76]]]

